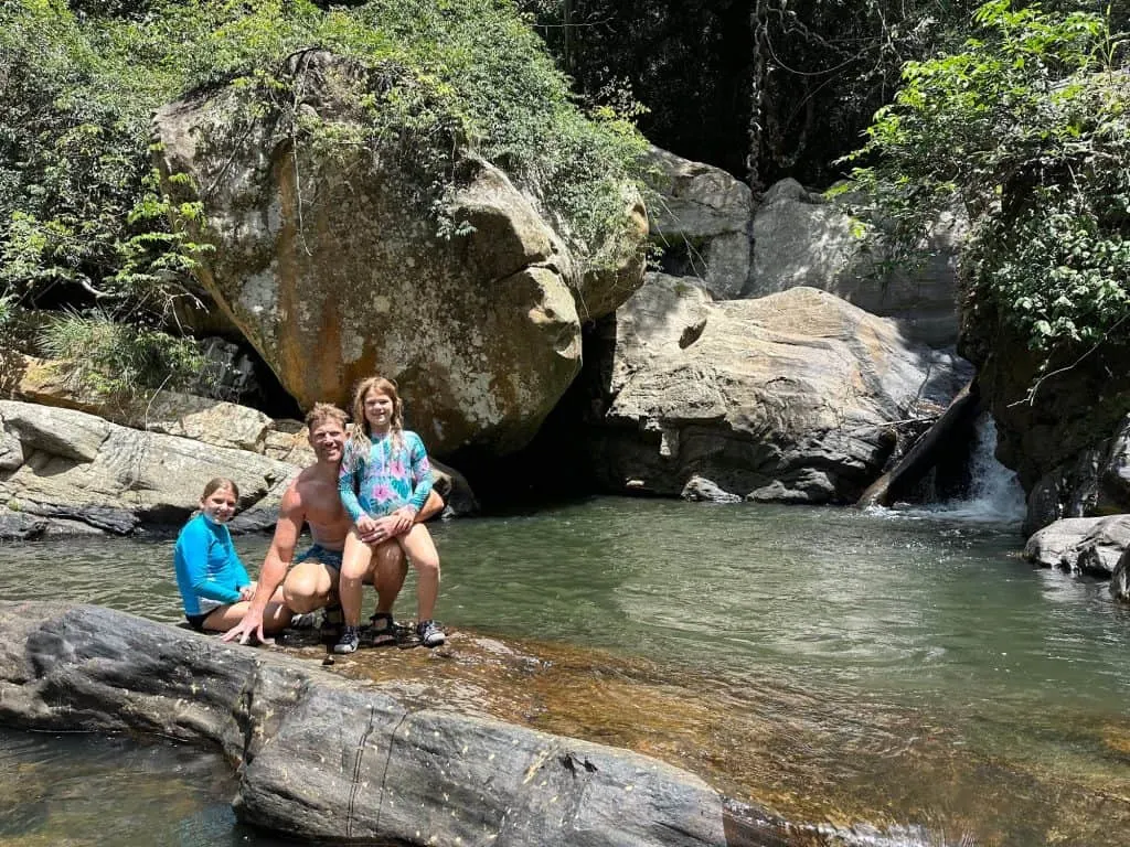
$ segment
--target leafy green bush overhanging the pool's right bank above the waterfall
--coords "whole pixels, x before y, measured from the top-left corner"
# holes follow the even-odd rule
[[[905,253],[940,209],[971,220],[970,307],[1052,357],[1130,318],[1127,35],[993,0],[960,52],[911,62],[852,158]],[[1123,328],[1123,335],[1124,335]]]

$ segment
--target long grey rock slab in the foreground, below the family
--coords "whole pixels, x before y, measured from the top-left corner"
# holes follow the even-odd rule
[[[240,818],[289,837],[539,847],[859,842],[728,802],[645,756],[409,699],[310,660],[122,612],[0,602],[0,723],[219,748],[241,767]]]

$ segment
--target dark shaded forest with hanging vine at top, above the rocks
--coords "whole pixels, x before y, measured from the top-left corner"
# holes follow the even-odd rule
[[[903,62],[959,43],[975,0],[522,0],[580,94],[627,89],[680,156],[768,185],[841,174]],[[756,136],[756,138],[754,138]],[[753,148],[753,149],[751,149]]]

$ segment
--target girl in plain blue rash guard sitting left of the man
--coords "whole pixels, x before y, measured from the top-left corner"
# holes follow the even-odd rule
[[[227,522],[235,515],[240,489],[229,479],[217,478],[205,486],[200,512],[176,536],[174,564],[176,587],[184,602],[184,617],[197,631],[224,631],[243,619],[255,584],[247,576],[232,544]],[[286,629],[292,612],[276,593],[263,613],[264,630]]]

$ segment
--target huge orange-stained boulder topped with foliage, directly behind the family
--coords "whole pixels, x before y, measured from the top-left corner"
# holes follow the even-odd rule
[[[307,119],[357,129],[337,94],[365,84],[357,71],[320,51],[290,70]],[[581,321],[642,281],[638,198],[625,193],[631,243],[605,251],[621,265],[585,272],[489,163],[458,158],[441,234],[411,167],[363,145],[307,142],[270,108],[244,121],[244,96],[220,89],[155,119],[167,189],[203,204],[208,292],[304,408],[344,403],[381,373],[433,452],[522,446],[577,373]]]

